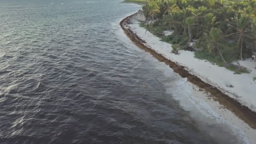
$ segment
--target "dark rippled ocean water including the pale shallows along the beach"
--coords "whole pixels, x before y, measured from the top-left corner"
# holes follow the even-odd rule
[[[0,1],[0,143],[247,143],[132,44],[113,1]]]

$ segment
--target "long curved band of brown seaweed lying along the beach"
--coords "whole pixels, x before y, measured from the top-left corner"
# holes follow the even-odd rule
[[[124,30],[127,37],[129,37],[129,39],[133,41],[133,43],[135,43],[140,49],[149,52],[153,57],[158,59],[160,62],[164,62],[165,64],[169,65],[169,67],[171,67],[175,73],[179,74],[182,77],[187,77],[189,82],[193,83],[201,89],[204,89],[206,92],[211,93],[211,97],[213,97],[214,100],[218,101],[220,105],[224,106],[226,109],[234,113],[234,115],[242,119],[242,121],[248,124],[251,128],[256,129],[256,112],[249,109],[249,107],[242,105],[237,100],[229,97],[229,95],[224,94],[217,87],[214,87],[209,83],[202,81],[196,75],[189,73],[187,67],[183,67],[178,63],[172,62],[170,59],[167,59],[166,57],[160,55],[153,49],[150,49],[148,46],[146,46],[146,41],[139,38],[135,32],[133,32],[129,27],[127,27],[127,25],[131,23],[132,17],[136,14],[137,13],[127,16],[125,17],[125,19],[120,21],[121,28]]]

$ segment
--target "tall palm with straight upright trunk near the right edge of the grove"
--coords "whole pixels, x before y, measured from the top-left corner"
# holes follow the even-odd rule
[[[243,60],[243,45],[245,45],[245,39],[249,37],[251,30],[249,27],[251,26],[251,17],[246,14],[242,14],[239,18],[236,16],[234,17],[232,27],[236,30],[235,33],[237,34],[237,47],[240,48],[240,58]]]

